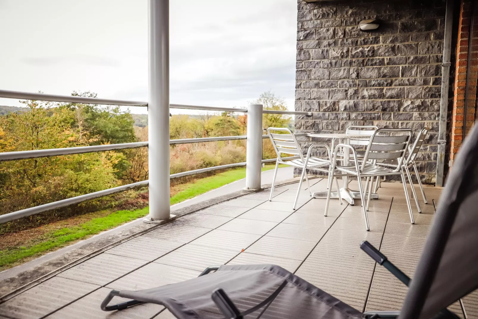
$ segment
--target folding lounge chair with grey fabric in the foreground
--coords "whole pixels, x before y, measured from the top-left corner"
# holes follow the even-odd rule
[[[150,302],[164,305],[180,319],[459,318],[446,307],[478,288],[477,162],[475,126],[448,177],[413,280],[369,243],[361,244],[376,262],[405,285],[410,284],[401,311],[362,313],[274,265],[223,265],[177,284],[140,291],[113,290],[101,308],[111,311]],[[114,296],[133,300],[108,306]]]

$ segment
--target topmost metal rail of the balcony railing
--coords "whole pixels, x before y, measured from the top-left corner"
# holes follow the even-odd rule
[[[146,107],[148,106],[147,102],[140,102],[140,101],[99,99],[99,98],[91,98],[91,97],[83,97],[83,96],[56,95],[56,94],[44,94],[44,93],[32,93],[32,92],[8,91],[8,90],[0,90],[0,97],[1,98],[8,98],[8,99],[38,100],[38,101],[64,102],[64,103],[146,106]],[[215,112],[243,112],[243,113],[247,113],[247,109],[233,108],[233,107],[184,105],[184,104],[169,104],[169,107],[173,108],[173,109],[189,109],[189,110],[205,110],[205,111],[215,111]],[[312,112],[302,112],[302,111],[263,110],[262,113],[312,116]]]

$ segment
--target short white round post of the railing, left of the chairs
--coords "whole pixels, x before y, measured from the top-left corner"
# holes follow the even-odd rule
[[[262,167],[262,105],[251,104],[247,109],[246,187],[261,189]]]

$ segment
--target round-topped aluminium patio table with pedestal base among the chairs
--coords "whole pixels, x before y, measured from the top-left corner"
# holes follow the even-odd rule
[[[350,145],[350,138],[370,138],[367,135],[357,135],[357,134],[346,134],[346,133],[324,133],[324,134],[307,134],[308,137],[321,137],[321,138],[331,138],[332,144],[335,139],[343,139],[345,140],[345,144]],[[350,153],[349,149],[344,150],[344,165],[348,165]],[[334,150],[331,149],[333,154]],[[346,200],[350,205],[354,205],[355,199],[360,199],[360,192],[356,190],[351,190],[348,188],[348,176],[342,177],[343,185],[340,188],[340,195],[342,199]],[[327,198],[327,192],[315,192],[312,194],[315,198]],[[337,192],[332,192],[330,194],[330,198],[338,198]],[[376,193],[371,194],[371,198],[378,199],[379,195]]]

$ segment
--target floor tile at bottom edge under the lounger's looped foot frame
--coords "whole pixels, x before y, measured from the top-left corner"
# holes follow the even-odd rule
[[[111,289],[100,288],[97,291],[76,300],[71,305],[58,310],[52,315],[46,317],[48,319],[148,319],[156,315],[163,306],[145,303],[127,308],[121,311],[106,312],[100,309],[103,299],[109,294]],[[110,305],[127,301],[129,299],[114,297]]]

